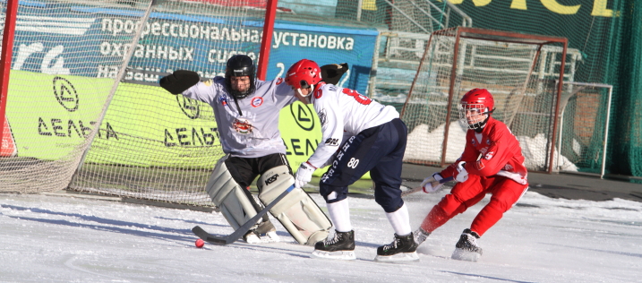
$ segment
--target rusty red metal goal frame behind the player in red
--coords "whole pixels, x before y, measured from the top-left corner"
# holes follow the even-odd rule
[[[453,32],[454,30],[454,32]],[[419,62],[419,67],[417,68],[417,73],[415,73],[415,79],[413,80],[413,83],[410,86],[410,90],[408,91],[406,103],[404,103],[404,107],[401,109],[400,116],[404,116],[404,113],[406,112],[406,107],[407,104],[412,97],[413,90],[415,90],[415,83],[417,79],[419,78],[419,73],[422,70],[422,67],[424,66],[425,58],[428,53],[430,53],[430,47],[432,44],[432,39],[434,38],[435,35],[449,35],[449,33],[453,33],[451,36],[455,37],[455,48],[452,50],[453,54],[453,59],[452,59],[452,67],[451,67],[451,72],[450,72],[450,78],[449,78],[449,90],[448,90],[448,106],[447,106],[447,114],[446,114],[446,121],[450,121],[450,116],[451,114],[451,107],[453,105],[453,98],[454,98],[454,89],[455,89],[455,84],[457,81],[457,67],[458,67],[458,53],[459,53],[459,39],[482,39],[482,40],[491,40],[491,41],[496,41],[496,42],[504,42],[504,43],[522,43],[522,44],[534,44],[534,45],[539,45],[537,48],[535,58],[533,60],[533,65],[530,68],[530,72],[532,73],[535,64],[537,63],[537,60],[540,56],[542,47],[544,45],[549,45],[549,44],[561,44],[562,45],[562,54],[561,54],[561,65],[560,65],[560,77],[558,78],[559,81],[564,81],[564,68],[566,65],[566,56],[567,56],[567,49],[569,46],[569,40],[566,38],[561,38],[561,37],[552,37],[552,36],[544,36],[544,35],[535,35],[535,34],[525,34],[525,33],[518,33],[518,32],[511,32],[511,31],[503,31],[503,30],[486,30],[486,29],[478,29],[478,28],[467,28],[467,27],[456,27],[456,28],[449,28],[449,29],[444,29],[444,30],[436,30],[432,32],[431,39],[428,40],[428,43],[425,46],[424,49],[424,56],[422,56],[421,61]],[[530,73],[529,73],[530,77]],[[547,173],[552,174],[553,172],[553,159],[554,159],[554,150],[552,150],[552,145],[554,145],[554,141],[556,140],[556,133],[558,132],[557,127],[558,124],[560,123],[560,99],[561,99],[561,91],[562,91],[562,84],[558,83],[556,86],[556,91],[555,91],[555,109],[553,111],[553,123],[552,123],[552,136],[551,136],[551,148],[550,148],[550,153],[549,153],[549,165],[547,168]],[[449,135],[449,123],[445,124],[444,128],[444,139],[441,144],[441,163],[440,167],[444,167],[446,165],[446,149],[448,145],[448,135]]]

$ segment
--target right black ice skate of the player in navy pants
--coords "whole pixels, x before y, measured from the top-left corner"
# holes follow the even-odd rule
[[[406,236],[398,236],[390,244],[381,245],[377,248],[375,262],[418,262],[419,256],[415,252],[417,244],[415,236],[410,233]]]

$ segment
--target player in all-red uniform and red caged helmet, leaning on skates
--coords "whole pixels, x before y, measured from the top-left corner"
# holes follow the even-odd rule
[[[509,127],[492,118],[494,101],[488,90],[469,90],[461,99],[459,116],[468,124],[466,149],[461,157],[422,184],[424,193],[437,191],[441,184],[432,181],[452,177],[458,183],[435,205],[415,230],[415,242],[421,244],[432,231],[449,219],[492,193],[491,201],[479,211],[470,228],[461,234],[453,259],[475,262],[482,255],[476,239],[501,219],[526,193],[526,167],[518,139]]]

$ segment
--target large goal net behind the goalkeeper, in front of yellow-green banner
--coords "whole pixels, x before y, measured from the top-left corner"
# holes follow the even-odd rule
[[[256,60],[265,4],[21,2],[4,127],[19,154],[0,151],[0,190],[209,205],[203,187],[223,156],[211,107],[158,79],[214,77],[235,54]]]

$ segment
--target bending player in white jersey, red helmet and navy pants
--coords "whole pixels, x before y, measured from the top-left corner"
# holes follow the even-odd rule
[[[322,138],[310,159],[299,167],[295,185],[310,182],[316,168],[330,165],[321,176],[335,236],[314,245],[312,256],[355,259],[355,231],[350,223],[347,186],[370,171],[374,200],[395,230],[394,241],[377,249],[378,262],[418,261],[407,207],[401,199],[401,165],[407,127],[394,107],[321,81],[319,65],[303,59],[290,67],[286,83],[304,103],[312,103],[321,120]]]

